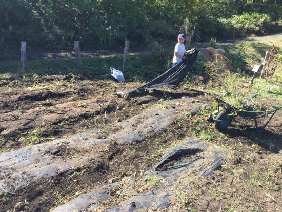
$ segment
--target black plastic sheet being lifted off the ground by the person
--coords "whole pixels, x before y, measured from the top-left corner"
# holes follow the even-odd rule
[[[196,48],[191,49],[191,51],[186,55],[186,59],[177,65],[173,66],[171,69],[159,75],[154,80],[149,83],[140,86],[138,88],[133,88],[130,90],[119,91],[115,93],[119,97],[124,95],[145,92],[146,90],[154,90],[161,87],[177,87],[179,83],[185,78],[190,68],[193,66],[197,60],[197,55],[199,51]]]

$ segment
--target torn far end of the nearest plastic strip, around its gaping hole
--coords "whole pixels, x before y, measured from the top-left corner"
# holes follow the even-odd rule
[[[147,173],[162,178],[178,178],[183,171],[198,166],[200,176],[206,177],[225,163],[227,155],[227,152],[217,149],[205,154],[209,148],[208,144],[199,139],[189,137],[182,145],[175,146]]]

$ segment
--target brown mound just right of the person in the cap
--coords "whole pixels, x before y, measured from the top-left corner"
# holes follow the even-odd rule
[[[220,67],[226,68],[229,71],[236,71],[236,69],[231,64],[231,61],[225,54],[224,49],[214,49],[212,47],[207,47],[199,48],[198,50],[200,52],[199,56],[204,60],[215,62],[220,65]]]

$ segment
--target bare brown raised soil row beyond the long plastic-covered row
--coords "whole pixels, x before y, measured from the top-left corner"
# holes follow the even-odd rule
[[[46,93],[48,95],[48,92]],[[105,99],[104,101],[106,101],[105,104],[109,104],[109,101],[115,99],[112,97],[112,99]],[[53,105],[52,108],[38,107],[27,111],[12,111],[0,114],[0,128],[2,129],[0,135],[6,136],[18,130],[25,131],[30,128],[46,126],[66,118],[75,118],[82,115],[90,117],[91,113],[95,114],[103,109],[97,99],[85,100],[83,103],[85,104],[84,107],[78,107],[79,101],[75,101]]]

